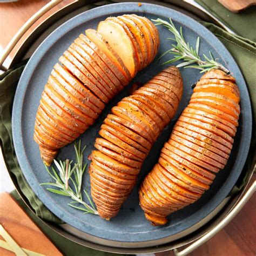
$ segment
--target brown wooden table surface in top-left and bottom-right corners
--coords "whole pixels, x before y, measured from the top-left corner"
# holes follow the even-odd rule
[[[48,0],[21,0],[12,3],[0,3],[0,54],[17,30]],[[31,32],[45,17],[72,0],[64,0],[49,14],[39,19]],[[8,25],[6,25],[8,24]],[[24,40],[29,32],[22,38]],[[16,47],[17,50],[17,47]],[[15,50],[10,57],[14,56]],[[255,179],[255,176],[254,176]],[[256,197],[248,201],[238,215],[212,239],[192,252],[191,256],[255,256],[256,255]],[[173,252],[157,253],[157,256],[171,256]]]

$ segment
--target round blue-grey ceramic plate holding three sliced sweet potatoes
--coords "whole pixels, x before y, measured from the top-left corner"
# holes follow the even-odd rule
[[[161,136],[153,146],[139,174],[137,186],[134,187],[131,196],[126,200],[116,218],[106,221],[95,215],[83,214],[83,212],[68,206],[70,201],[68,198],[52,194],[46,191],[45,187],[39,185],[40,183],[51,181],[51,178],[44,169],[39,156],[38,146],[33,140],[33,129],[39,100],[53,65],[58,62],[59,56],[68,48],[73,39],[78,37],[85,29],[96,29],[99,21],[104,20],[108,16],[130,13],[146,16],[150,19],[158,17],[167,19],[171,17],[178,28],[179,26],[183,26],[185,39],[191,45],[194,45],[197,37],[200,36],[200,53],[211,51],[215,58],[219,58],[219,61],[233,73],[241,92],[239,127],[227,166],[224,170],[220,171],[211,189],[200,200],[183,210],[171,214],[169,223],[163,227],[153,227],[149,221],[146,221],[143,211],[139,207],[138,187],[145,175],[158,160],[160,149],[167,138],[169,138],[175,120],[187,105],[192,93],[191,85],[200,78],[198,70],[180,69],[184,79],[184,96],[176,117],[161,133]],[[166,39],[170,37],[170,32],[161,26],[158,29],[161,42],[159,53],[163,53],[170,48],[170,41]],[[161,62],[170,59],[170,57],[166,55],[164,59],[161,59]],[[136,81],[146,83],[147,80],[157,75],[164,68],[166,66],[154,62],[145,70],[138,73],[131,84]],[[127,89],[129,89],[129,86]],[[98,136],[99,127],[103,119],[109,113],[111,107],[127,95],[127,89],[112,100],[97,123],[80,137],[83,144],[87,144],[86,159],[87,155],[93,149],[93,143]],[[26,65],[22,77],[19,80],[12,111],[12,132],[15,151],[24,176],[38,198],[60,219],[78,228],[80,231],[92,237],[123,242],[143,242],[163,239],[186,230],[211,213],[231,191],[241,173],[250,145],[251,130],[252,114],[246,84],[238,65],[225,46],[210,31],[204,28],[204,26],[186,15],[163,6],[145,3],[140,7],[137,3],[120,3],[102,6],[86,11],[59,26],[38,47]],[[73,144],[60,150],[58,158],[73,159]],[[90,189],[89,175],[87,173],[84,177],[83,186]]]

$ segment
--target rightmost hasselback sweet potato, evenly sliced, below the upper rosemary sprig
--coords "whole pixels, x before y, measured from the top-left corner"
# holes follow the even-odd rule
[[[221,70],[205,73],[158,163],[140,186],[140,206],[152,225],[166,224],[169,214],[192,204],[210,188],[215,173],[227,163],[239,113],[235,79]]]

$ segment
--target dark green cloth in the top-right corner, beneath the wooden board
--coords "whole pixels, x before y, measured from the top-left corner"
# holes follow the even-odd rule
[[[234,14],[217,0],[195,0],[237,35],[256,42],[256,6]]]

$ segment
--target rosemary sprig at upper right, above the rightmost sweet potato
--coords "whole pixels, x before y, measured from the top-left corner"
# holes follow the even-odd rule
[[[171,41],[177,43],[171,44],[172,48],[163,53],[159,58],[163,57],[167,53],[172,53],[174,58],[164,62],[163,64],[171,64],[176,62],[177,60],[183,59],[185,62],[177,65],[177,68],[184,66],[184,68],[193,68],[201,70],[200,73],[207,72],[211,69],[221,69],[226,73],[230,71],[225,68],[222,64],[217,62],[217,59],[214,59],[211,51],[209,51],[210,57],[207,57],[203,54],[204,59],[201,59],[199,56],[199,44],[200,37],[197,38],[196,49],[192,48],[189,43],[186,43],[183,37],[182,27],[180,27],[180,31],[176,29],[174,26],[172,19],[170,18],[170,22],[164,21],[163,19],[152,19],[152,21],[156,22],[155,25],[163,25],[165,26],[171,33],[173,33],[174,38],[167,38]]]

